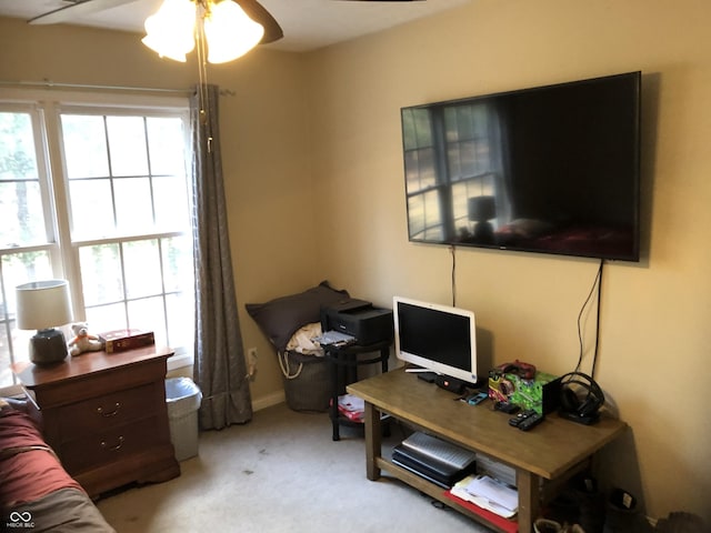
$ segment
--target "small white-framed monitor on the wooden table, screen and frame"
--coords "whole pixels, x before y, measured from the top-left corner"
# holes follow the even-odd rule
[[[477,383],[474,313],[402,296],[392,299],[395,355],[425,370]]]

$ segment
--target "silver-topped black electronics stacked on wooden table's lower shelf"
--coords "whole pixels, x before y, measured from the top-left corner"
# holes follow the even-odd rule
[[[470,473],[475,454],[450,442],[415,432],[392,451],[392,462],[432,483],[449,489]]]

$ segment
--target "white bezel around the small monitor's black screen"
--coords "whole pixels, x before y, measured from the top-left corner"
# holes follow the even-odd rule
[[[444,313],[455,314],[459,316],[465,316],[469,319],[469,335],[471,342],[471,358],[470,358],[470,369],[471,372],[462,369],[458,369],[455,366],[450,366],[448,364],[433,361],[431,359],[422,358],[420,355],[415,355],[414,353],[402,351],[400,346],[400,318],[399,318],[399,309],[398,304],[404,303],[408,305],[430,309],[434,311],[440,311]],[[407,363],[412,363],[418,366],[422,366],[423,369],[430,370],[438,374],[443,374],[450,378],[455,378],[461,381],[465,381],[468,383],[477,383],[478,381],[478,371],[477,371],[477,319],[474,316],[473,311],[468,309],[454,308],[451,305],[441,305],[438,303],[423,302],[419,300],[413,300],[404,296],[393,296],[392,298],[392,318],[394,322],[394,338],[395,338],[395,356],[400,361],[404,361]]]

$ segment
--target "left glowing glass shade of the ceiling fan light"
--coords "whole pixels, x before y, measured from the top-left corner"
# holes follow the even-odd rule
[[[144,26],[141,42],[161,58],[184,62],[186,54],[196,48],[196,6],[190,0],[164,0]]]

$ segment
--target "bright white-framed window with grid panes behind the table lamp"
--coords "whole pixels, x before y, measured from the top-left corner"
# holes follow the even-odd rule
[[[187,99],[40,97],[0,93],[0,386],[27,359],[14,288],[32,280],[68,279],[92,332],[151,330],[190,356]]]

